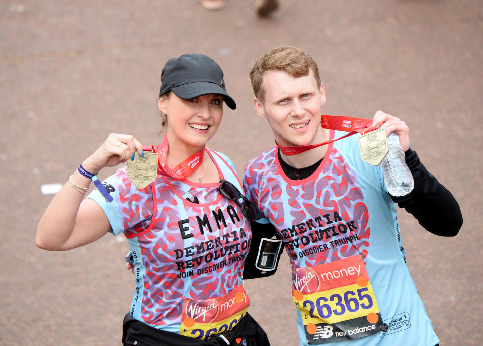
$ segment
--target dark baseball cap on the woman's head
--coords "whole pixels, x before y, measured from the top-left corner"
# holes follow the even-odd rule
[[[235,100],[226,92],[221,67],[203,54],[184,54],[168,60],[161,71],[159,96],[170,90],[182,99],[207,94],[223,95],[226,105],[236,108]]]

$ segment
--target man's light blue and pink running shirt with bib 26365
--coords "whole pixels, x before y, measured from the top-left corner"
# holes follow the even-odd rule
[[[284,174],[276,147],[245,170],[247,196],[290,257],[300,345],[434,346],[439,340],[406,265],[396,205],[381,167],[361,160],[358,136],[330,144],[303,180]]]

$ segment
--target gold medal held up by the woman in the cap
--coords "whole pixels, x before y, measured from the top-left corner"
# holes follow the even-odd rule
[[[144,151],[144,157],[137,153],[134,154],[134,160],[127,161],[127,178],[138,189],[144,189],[146,186],[156,180],[157,177],[157,154],[154,152]]]

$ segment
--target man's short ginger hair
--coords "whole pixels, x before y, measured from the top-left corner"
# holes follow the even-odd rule
[[[317,63],[310,55],[293,46],[277,47],[272,49],[270,53],[259,57],[250,71],[253,92],[262,103],[265,97],[265,90],[262,87],[263,77],[265,73],[271,70],[284,71],[292,77],[308,76],[310,70],[312,70],[317,85],[320,86],[321,84]]]

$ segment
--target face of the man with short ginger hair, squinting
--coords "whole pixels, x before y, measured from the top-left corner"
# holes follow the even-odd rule
[[[259,116],[267,118],[279,145],[300,146],[324,140],[320,106],[326,98],[312,70],[304,77],[269,71],[262,87],[265,96],[263,100],[254,99],[255,108]]]

